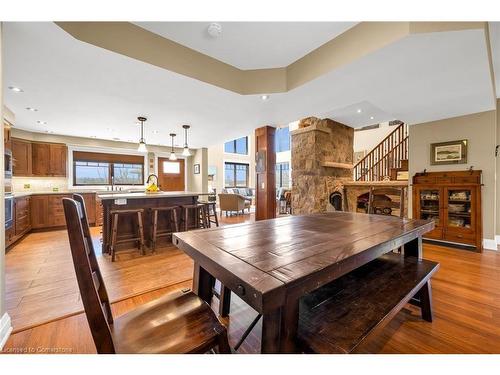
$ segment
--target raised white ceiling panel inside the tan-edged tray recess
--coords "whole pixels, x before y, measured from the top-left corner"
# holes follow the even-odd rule
[[[211,37],[208,22],[135,22],[155,34],[239,69],[288,66],[356,22],[221,22]]]

